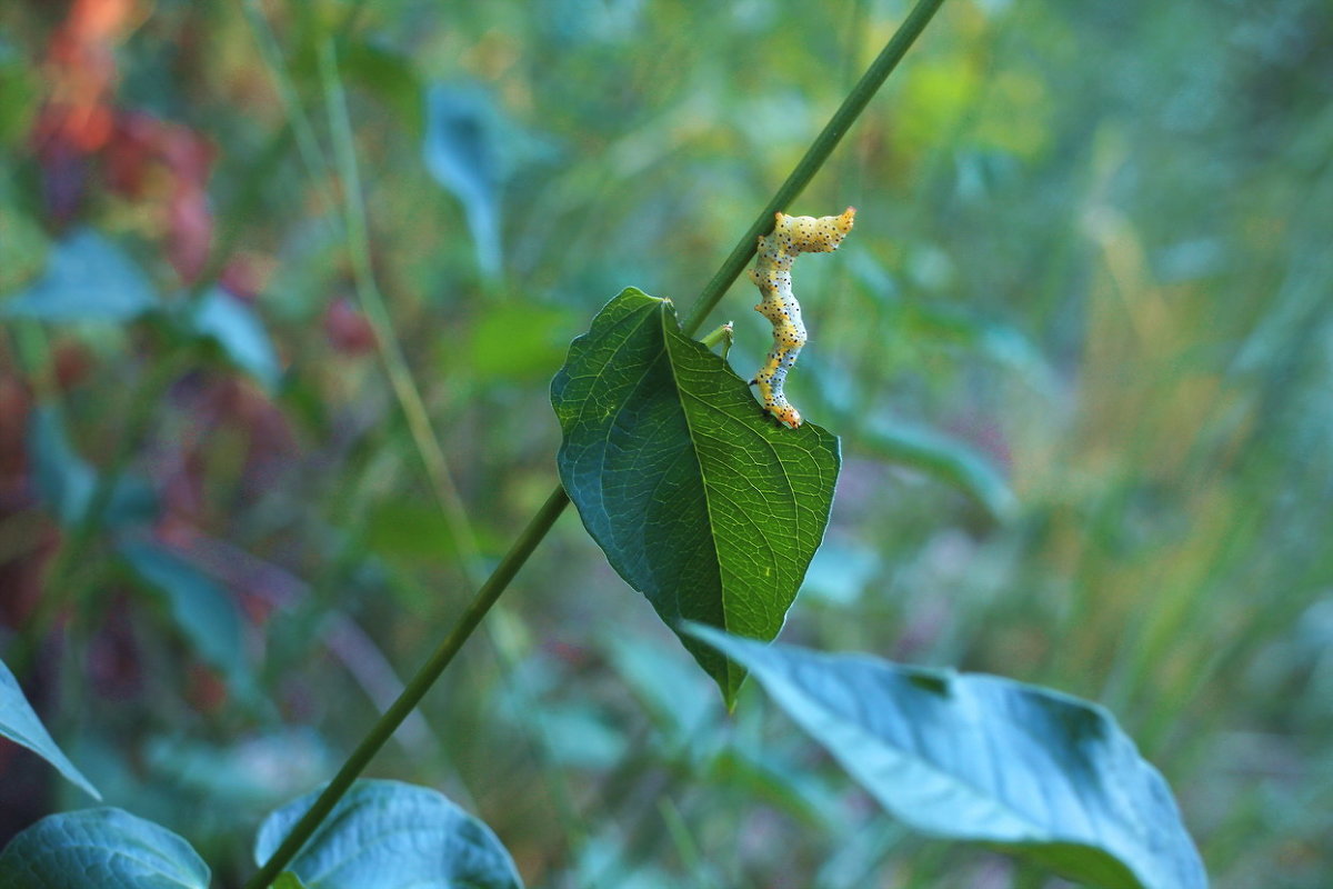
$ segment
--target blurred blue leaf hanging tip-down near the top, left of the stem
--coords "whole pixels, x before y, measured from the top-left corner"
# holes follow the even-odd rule
[[[491,97],[435,85],[427,96],[425,167],[463,204],[485,275],[500,271],[500,139]]]

